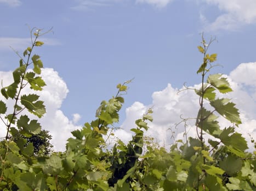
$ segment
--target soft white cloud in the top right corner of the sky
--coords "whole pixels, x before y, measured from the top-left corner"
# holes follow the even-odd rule
[[[254,0],[201,0],[217,5],[223,13],[214,22],[207,23],[207,31],[234,30],[243,25],[256,23],[256,1]]]

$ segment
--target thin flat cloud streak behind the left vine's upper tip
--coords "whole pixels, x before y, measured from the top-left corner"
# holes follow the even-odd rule
[[[44,42],[44,45],[54,46],[61,45],[59,40],[50,39],[50,38],[40,38],[40,41]],[[24,47],[31,46],[31,38],[12,38],[12,37],[0,37],[0,50],[8,51],[12,50],[11,47],[15,51],[24,50]]]

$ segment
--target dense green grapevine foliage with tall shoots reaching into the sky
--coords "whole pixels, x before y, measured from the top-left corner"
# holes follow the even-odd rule
[[[239,112],[230,99],[217,97],[232,89],[223,75],[208,74],[217,59],[217,54],[207,53],[212,40],[206,44],[203,39],[198,46],[203,62],[197,71],[201,88],[195,89],[200,104],[197,138],[177,140],[169,150],[156,145],[144,136],[147,122],[153,120],[150,109],[135,121],[128,144],[118,140],[107,150],[104,137],[115,133],[112,127],[119,119],[127,81],[117,85],[115,97],[101,102],[94,121],[72,132],[65,152],[35,154],[36,145],[29,138],[42,132],[41,125],[22,111],[37,117],[46,112],[36,94],[45,86],[43,63],[32,54],[43,45],[38,41],[41,35],[40,30],[31,32],[32,44],[20,56],[13,83],[1,89],[6,100],[14,100],[10,114],[6,101],[0,101],[0,118],[7,129],[0,142],[1,190],[256,190],[255,152],[246,152],[247,142],[235,130],[241,124]],[[24,94],[26,86],[34,93]],[[220,127],[218,117],[232,126]],[[206,134],[211,139],[204,139]]]

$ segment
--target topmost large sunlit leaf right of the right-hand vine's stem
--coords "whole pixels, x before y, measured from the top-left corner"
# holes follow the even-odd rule
[[[221,77],[221,74],[212,74],[208,76],[207,82],[217,88],[220,93],[232,92],[229,82],[226,77]]]

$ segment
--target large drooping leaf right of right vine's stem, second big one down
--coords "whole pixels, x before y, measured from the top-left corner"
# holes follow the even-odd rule
[[[216,99],[210,102],[213,108],[231,123],[241,124],[238,109],[235,108],[235,104],[229,102],[229,99]]]

